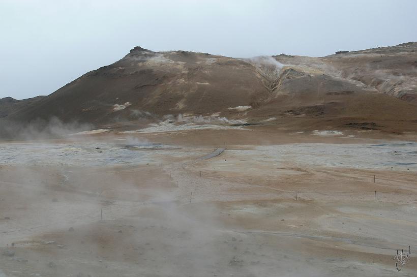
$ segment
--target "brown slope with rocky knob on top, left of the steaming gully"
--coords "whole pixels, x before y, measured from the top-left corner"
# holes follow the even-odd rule
[[[15,118],[78,119],[106,124],[138,116],[211,114],[267,95],[255,68],[239,59],[135,47],[88,72]]]

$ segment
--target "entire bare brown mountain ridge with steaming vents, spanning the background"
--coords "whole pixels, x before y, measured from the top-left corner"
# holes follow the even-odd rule
[[[4,102],[4,122],[56,116],[97,127],[215,114],[288,130],[415,131],[417,43],[251,59],[134,47],[47,97]]]

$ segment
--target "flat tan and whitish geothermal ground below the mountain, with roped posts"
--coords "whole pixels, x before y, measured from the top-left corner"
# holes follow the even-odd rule
[[[148,131],[0,143],[0,277],[416,275],[415,137]]]

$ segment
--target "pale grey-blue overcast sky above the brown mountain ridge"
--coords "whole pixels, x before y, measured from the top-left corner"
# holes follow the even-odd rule
[[[0,0],[0,98],[48,95],[133,46],[324,56],[417,41],[417,1]]]

